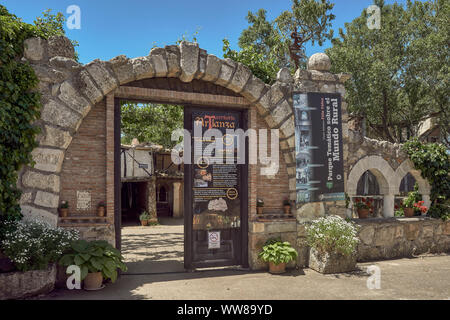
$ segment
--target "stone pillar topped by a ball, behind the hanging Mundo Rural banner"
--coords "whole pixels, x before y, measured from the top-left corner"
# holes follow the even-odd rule
[[[342,138],[344,158],[344,185],[347,192],[348,160],[348,115],[345,101],[344,83],[350,79],[349,74],[330,72],[331,60],[324,53],[316,53],[308,59],[307,70],[298,69],[294,75],[294,91],[300,93],[323,92],[339,93],[342,98]],[[316,219],[324,215],[339,215],[346,217],[351,212],[345,208],[345,200],[319,203],[307,203],[297,208],[297,220]]]

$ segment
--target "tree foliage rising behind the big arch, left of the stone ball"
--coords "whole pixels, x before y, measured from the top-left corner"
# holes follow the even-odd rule
[[[313,45],[316,42],[322,45],[332,38],[330,27],[335,16],[330,11],[333,6],[329,0],[293,0],[291,10],[282,12],[273,21],[267,20],[264,9],[248,12],[249,27],[239,37],[240,50],[232,50],[225,39],[224,57],[247,65],[261,80],[270,84],[275,81],[280,68],[295,69],[289,53],[292,32],[298,32],[304,43],[310,41]],[[306,63],[306,56],[300,63]]]

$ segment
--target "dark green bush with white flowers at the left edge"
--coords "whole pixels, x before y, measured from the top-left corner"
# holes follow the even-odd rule
[[[43,221],[4,222],[0,247],[19,271],[45,270],[79,239],[77,230],[53,227]]]

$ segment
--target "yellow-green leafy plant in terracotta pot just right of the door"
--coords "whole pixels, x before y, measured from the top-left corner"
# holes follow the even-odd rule
[[[261,260],[269,262],[269,272],[280,274],[286,272],[286,263],[297,258],[297,251],[289,242],[269,239],[259,253]]]

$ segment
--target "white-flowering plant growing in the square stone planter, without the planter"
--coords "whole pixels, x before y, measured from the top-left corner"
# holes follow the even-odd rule
[[[327,216],[314,220],[306,227],[308,244],[319,252],[351,255],[359,239],[358,228],[339,216]]]

